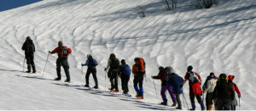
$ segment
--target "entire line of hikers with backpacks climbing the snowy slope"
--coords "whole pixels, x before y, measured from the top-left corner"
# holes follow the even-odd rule
[[[22,50],[25,51],[26,55],[26,64],[27,64],[27,73],[36,73],[35,64],[33,62],[33,53],[35,52],[34,44],[29,36],[26,37],[26,42],[24,42],[22,46]],[[49,51],[49,54],[58,53],[58,58],[56,60],[56,72],[57,77],[55,80],[61,80],[61,66],[65,70],[65,74],[67,76],[67,80],[65,82],[70,82],[69,75],[69,65],[68,65],[68,55],[72,53],[72,50],[66,46],[63,46],[63,42],[58,42],[58,47],[56,47],[53,51]],[[133,87],[137,92],[136,97],[143,99],[143,78],[146,72],[146,64],[143,58],[135,58],[135,64],[133,64],[132,69],[128,64],[125,63],[125,59],[121,60],[121,64],[119,64],[119,59],[116,58],[115,54],[110,54],[108,59],[108,65],[104,69],[104,71],[108,71],[108,78],[111,83],[111,88],[109,90],[119,92],[118,87],[118,78],[121,78],[121,86],[124,94],[128,94],[128,82],[130,80],[131,73],[134,75]],[[85,87],[90,87],[89,85],[89,77],[90,74],[93,75],[93,79],[95,81],[94,88],[98,88],[98,81],[96,77],[96,66],[98,65],[95,58],[92,55],[87,55],[87,60],[85,64],[81,64],[81,66],[88,66],[86,71]],[[172,69],[171,66],[167,66],[166,68],[160,66],[159,74],[155,76],[151,76],[152,79],[160,79],[161,80],[161,90],[160,95],[163,99],[161,105],[167,105],[166,98],[166,90],[169,92],[170,97],[172,97],[172,107],[177,105],[177,109],[182,109],[182,103],[180,99],[180,94],[183,94],[183,85],[186,81],[189,81],[189,98],[192,108],[190,110],[195,110],[195,97],[197,102],[200,103],[201,109],[205,109],[205,105],[203,103],[204,93],[207,93],[206,97],[206,105],[207,110],[212,110],[212,105],[214,104],[215,109],[218,110],[236,110],[237,100],[235,97],[235,92],[237,92],[238,97],[241,97],[241,92],[239,91],[236,84],[233,82],[235,76],[234,75],[225,75],[220,74],[217,78],[214,73],[210,73],[207,76],[207,80],[202,86],[201,90],[201,76],[196,72],[192,71],[193,67],[189,65],[187,68],[187,73],[184,76],[184,80],[181,76],[177,75]],[[202,96],[202,97],[201,97]],[[183,95],[184,97],[184,95]],[[188,106],[189,107],[189,106]]]

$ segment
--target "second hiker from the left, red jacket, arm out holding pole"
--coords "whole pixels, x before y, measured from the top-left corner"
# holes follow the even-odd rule
[[[70,82],[70,75],[69,75],[69,65],[68,65],[68,55],[72,53],[69,47],[63,46],[63,42],[58,42],[58,47],[56,47],[53,51],[49,51],[50,54],[58,53],[58,58],[56,60],[56,71],[57,76],[55,80],[61,80],[61,66],[65,70],[65,74],[67,76],[67,80],[65,82]]]

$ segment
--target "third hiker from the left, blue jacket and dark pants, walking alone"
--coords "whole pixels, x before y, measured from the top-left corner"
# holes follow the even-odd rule
[[[95,86],[93,88],[97,89],[98,87],[98,80],[97,80],[97,76],[96,76],[96,65],[98,65],[97,61],[95,58],[92,58],[92,56],[90,54],[87,55],[87,60],[85,64],[81,64],[82,66],[87,65],[88,69],[86,71],[86,75],[85,75],[85,80],[86,80],[86,84],[85,87],[90,87],[89,86],[89,77],[90,77],[90,73],[93,76],[94,82],[95,82]]]

